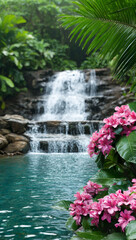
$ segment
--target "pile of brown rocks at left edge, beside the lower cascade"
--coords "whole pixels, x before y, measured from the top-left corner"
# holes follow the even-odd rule
[[[28,122],[20,115],[0,117],[0,155],[19,155],[29,151],[30,141],[24,135]]]

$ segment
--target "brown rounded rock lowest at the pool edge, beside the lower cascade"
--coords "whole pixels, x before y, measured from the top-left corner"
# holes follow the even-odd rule
[[[28,142],[17,141],[14,143],[10,143],[6,148],[3,149],[3,151],[6,154],[16,153],[16,152],[27,153],[29,149],[30,149],[30,146]]]

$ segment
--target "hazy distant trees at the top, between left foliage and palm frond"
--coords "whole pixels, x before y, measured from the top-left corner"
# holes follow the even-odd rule
[[[57,58],[58,62],[63,51],[62,62],[65,56],[67,62],[72,60],[79,65],[84,60],[85,54],[74,42],[69,43],[69,31],[65,31],[58,22],[59,15],[61,13],[69,13],[71,6],[72,0],[5,0],[0,3],[2,14],[8,13],[23,16],[26,23],[22,26],[25,26],[27,31],[32,32],[38,40],[43,39],[45,42],[49,42],[51,46],[53,46],[54,40],[56,40],[55,47],[57,46],[57,51],[55,51],[55,59]],[[60,45],[62,49],[60,49]],[[65,46],[67,46],[67,49]],[[65,63],[63,66],[64,70]],[[62,68],[62,66],[59,67],[59,64],[57,67],[57,70]]]

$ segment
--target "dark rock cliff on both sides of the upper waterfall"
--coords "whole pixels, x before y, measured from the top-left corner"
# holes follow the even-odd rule
[[[89,82],[90,72],[89,69],[84,70],[86,83]],[[46,86],[52,75],[53,72],[44,70],[25,73],[28,92],[8,98],[6,109],[0,110],[0,115],[19,114],[31,120],[36,114],[42,114],[44,112],[43,104],[46,101]],[[85,111],[88,113],[87,120],[102,120],[113,113],[115,106],[131,101],[131,96],[125,97],[123,95],[127,88],[121,87],[113,81],[109,69],[96,69],[96,77],[96,96],[90,97],[90,85],[86,85]]]

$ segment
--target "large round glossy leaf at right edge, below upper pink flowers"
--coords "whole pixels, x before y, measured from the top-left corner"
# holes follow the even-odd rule
[[[119,155],[127,162],[136,163],[136,131],[129,136],[122,136],[116,144]]]

